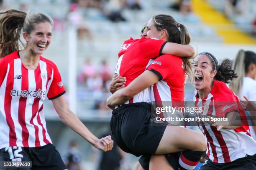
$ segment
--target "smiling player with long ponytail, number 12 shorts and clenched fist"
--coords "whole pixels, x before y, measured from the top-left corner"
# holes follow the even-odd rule
[[[32,169],[67,169],[46,130],[46,97],[69,128],[95,148],[111,150],[110,136],[98,139],[69,109],[56,65],[41,56],[51,42],[52,19],[44,13],[7,10],[0,13],[0,27],[1,161],[32,161]],[[19,51],[21,29],[26,47]]]

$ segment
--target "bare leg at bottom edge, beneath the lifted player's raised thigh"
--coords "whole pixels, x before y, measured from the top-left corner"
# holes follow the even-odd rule
[[[149,170],[174,170],[164,155],[151,156]]]

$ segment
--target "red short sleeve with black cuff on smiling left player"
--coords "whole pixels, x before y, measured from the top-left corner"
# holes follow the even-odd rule
[[[47,97],[49,100],[56,99],[57,97],[63,95],[66,92],[61,80],[61,75],[56,65],[53,65],[52,79],[50,81],[51,85],[47,93]]]

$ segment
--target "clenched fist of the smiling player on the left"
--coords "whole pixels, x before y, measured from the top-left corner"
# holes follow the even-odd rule
[[[104,152],[112,150],[114,146],[114,141],[111,139],[111,136],[106,136],[104,138],[98,139],[94,145],[95,148],[102,150]]]

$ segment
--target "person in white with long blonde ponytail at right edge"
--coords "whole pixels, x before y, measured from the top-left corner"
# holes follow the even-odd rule
[[[251,101],[256,101],[256,54],[252,51],[240,50],[233,62],[233,70],[238,78],[231,81],[230,88],[241,99],[246,96]],[[250,126],[250,130],[256,140],[256,126]]]

